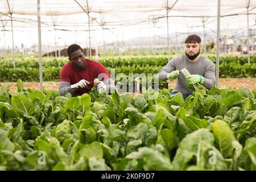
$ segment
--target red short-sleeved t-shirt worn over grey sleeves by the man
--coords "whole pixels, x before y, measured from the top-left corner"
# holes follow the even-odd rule
[[[84,70],[77,70],[73,64],[69,62],[64,65],[60,72],[60,81],[70,82],[71,85],[76,84],[82,79],[90,82],[90,85],[85,88],[79,87],[75,93],[76,96],[90,92],[94,86],[94,78],[104,81],[110,78],[110,75],[104,65],[89,59],[86,59],[86,68]]]

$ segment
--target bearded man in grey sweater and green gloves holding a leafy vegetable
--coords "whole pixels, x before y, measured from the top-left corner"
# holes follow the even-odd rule
[[[163,69],[159,71],[160,80],[175,80],[174,91],[171,95],[178,92],[187,98],[192,94],[188,84],[200,83],[205,88],[210,89],[215,84],[215,66],[207,57],[200,55],[201,38],[198,35],[189,35],[185,39],[185,55],[174,57]],[[180,74],[181,69],[186,68],[191,76],[185,77]]]

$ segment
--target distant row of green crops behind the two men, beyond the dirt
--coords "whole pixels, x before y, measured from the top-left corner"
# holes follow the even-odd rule
[[[216,57],[210,56],[210,60],[216,63]],[[43,61],[43,80],[59,81],[61,68],[67,59]],[[167,57],[130,57],[126,59],[102,59],[98,60],[110,72],[114,69],[115,75],[118,73],[158,73],[160,69],[168,63]],[[250,57],[250,64],[247,63],[247,57],[220,57],[220,77],[256,77],[256,56]],[[39,81],[39,63],[38,60],[20,60],[16,61],[16,68],[13,68],[12,60],[0,61],[0,81]]]

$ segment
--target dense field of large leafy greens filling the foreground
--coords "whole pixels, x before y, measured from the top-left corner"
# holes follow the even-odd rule
[[[17,86],[0,91],[0,170],[256,170],[256,89],[184,101]]]

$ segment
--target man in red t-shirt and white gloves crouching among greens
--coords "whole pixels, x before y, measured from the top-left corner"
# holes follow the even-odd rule
[[[67,92],[72,96],[81,96],[90,92],[94,86],[94,78],[100,80],[95,85],[99,92],[110,93],[115,89],[114,82],[104,65],[86,59],[79,45],[72,44],[67,51],[69,63],[65,64],[60,72],[59,93],[61,96]]]

